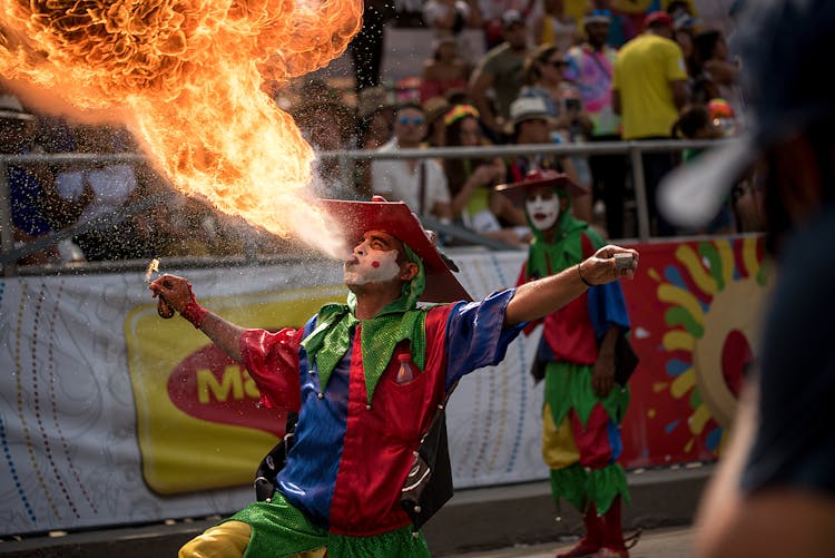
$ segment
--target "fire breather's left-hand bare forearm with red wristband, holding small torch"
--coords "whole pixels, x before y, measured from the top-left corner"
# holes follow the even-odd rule
[[[148,288],[154,292],[155,298],[161,296],[165,303],[205,333],[235,362],[240,362],[243,359],[240,335],[244,333],[244,329],[197,304],[188,280],[176,275],[163,275],[153,282]]]

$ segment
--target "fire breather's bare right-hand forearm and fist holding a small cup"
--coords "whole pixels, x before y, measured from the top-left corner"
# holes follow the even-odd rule
[[[631,254],[630,267],[617,267],[615,254]],[[593,256],[577,265],[517,288],[515,295],[504,311],[504,325],[538,320],[564,306],[593,285],[602,285],[621,277],[635,277],[638,252],[609,245],[598,249]]]

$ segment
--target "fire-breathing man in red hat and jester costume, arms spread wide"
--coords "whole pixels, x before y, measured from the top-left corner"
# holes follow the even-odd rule
[[[298,414],[273,497],[209,528],[181,557],[429,557],[401,492],[446,394],[464,374],[502,361],[524,322],[582,295],[583,277],[603,284],[635,275],[635,266],[616,268],[615,254],[637,260],[637,252],[605,246],[562,273],[468,302],[407,206],[323,205],[352,246],[347,301],[323,306],[298,330],[229,323],[200,306],[184,277],[150,285],[244,364],[263,404]]]

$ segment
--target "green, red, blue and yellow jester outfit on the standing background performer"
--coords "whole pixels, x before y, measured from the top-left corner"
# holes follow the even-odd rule
[[[534,229],[536,241],[518,284],[578,264],[603,246],[582,221],[560,215],[553,242]],[[549,466],[554,499],[583,510],[592,501],[606,512],[620,495],[629,498],[626,474],[617,463],[622,450],[618,424],[628,404],[627,389],[606,398],[591,386],[599,343],[612,326],[629,329],[618,283],[596,285],[543,320],[537,363],[546,380],[542,456]],[[531,324],[534,325],[534,324]]]

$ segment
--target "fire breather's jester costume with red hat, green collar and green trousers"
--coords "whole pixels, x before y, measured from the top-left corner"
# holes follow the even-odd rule
[[[404,204],[390,205],[418,223]],[[302,329],[246,330],[239,339],[262,404],[298,413],[274,497],[217,527],[226,529],[217,538],[243,538],[245,557],[322,556],[324,548],[328,558],[429,556],[401,505],[414,452],[451,386],[499,363],[521,331],[504,326],[513,290],[466,302],[421,228],[410,238],[397,219],[385,217],[386,207],[372,209],[369,219],[358,218],[364,229],[393,231],[418,264],[397,300],[357,320],[352,293],[347,304],[325,305]],[[465,300],[419,309],[431,290],[439,296],[429,302]],[[399,381],[404,361],[414,375]],[[239,527],[245,531],[234,533]]]

